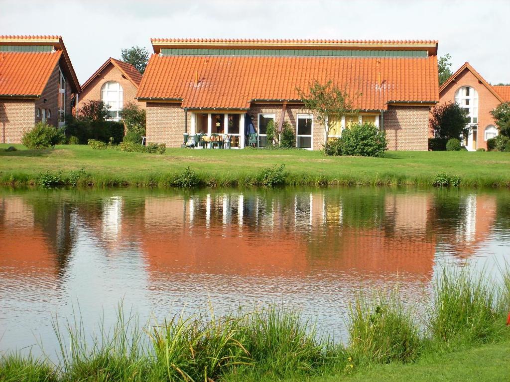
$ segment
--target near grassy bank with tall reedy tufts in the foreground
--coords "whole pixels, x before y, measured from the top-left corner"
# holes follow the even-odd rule
[[[222,315],[210,309],[142,328],[136,317],[125,317],[120,310],[113,330],[99,326],[92,337],[79,323],[56,325],[58,365],[4,355],[0,380],[320,382],[387,379],[386,374],[392,380],[444,380],[438,379],[441,374],[428,374],[438,363],[448,365],[444,376],[462,369],[459,375],[481,380],[507,377],[507,368],[495,365],[508,359],[503,351],[510,341],[505,326],[510,269],[500,282],[447,271],[423,303],[421,311],[427,314],[418,317],[416,307],[406,307],[397,290],[356,294],[346,344],[319,333],[313,320],[285,307]],[[493,345],[480,348],[486,344]],[[473,359],[473,354],[483,359]]]

